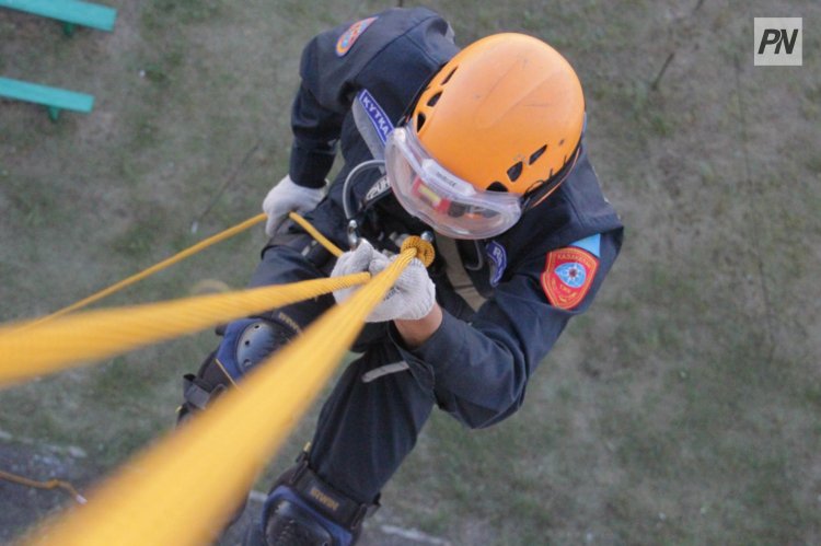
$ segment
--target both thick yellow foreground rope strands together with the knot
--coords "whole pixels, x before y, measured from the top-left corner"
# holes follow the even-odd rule
[[[365,318],[417,253],[429,265],[429,244],[403,245],[402,254],[384,271],[252,372],[242,391],[231,390],[220,397],[205,415],[103,485],[89,507],[48,523],[31,544],[196,545],[212,541],[265,461],[331,376]],[[0,328],[0,355],[7,359],[0,367],[0,383],[176,337],[362,283],[369,277],[362,272],[96,311],[36,326],[23,323],[24,328],[7,326]]]

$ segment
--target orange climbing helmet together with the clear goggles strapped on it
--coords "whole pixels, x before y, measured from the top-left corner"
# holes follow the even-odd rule
[[[456,239],[502,233],[547,197],[578,158],[585,126],[576,72],[523,34],[467,46],[413,108],[388,139],[388,178],[408,212]]]

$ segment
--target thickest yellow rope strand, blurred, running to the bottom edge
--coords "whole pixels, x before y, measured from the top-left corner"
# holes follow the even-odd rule
[[[88,506],[50,522],[26,544],[194,546],[213,541],[415,254],[403,251],[349,300],[251,372],[242,391],[227,392],[126,465],[91,495]]]

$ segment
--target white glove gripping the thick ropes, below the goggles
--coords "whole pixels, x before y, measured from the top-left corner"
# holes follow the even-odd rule
[[[377,275],[391,263],[392,258],[373,249],[368,241],[362,240],[355,251],[346,252],[336,260],[332,277],[342,277],[360,271]],[[357,288],[345,288],[334,292],[337,303],[347,300]],[[427,316],[436,303],[436,287],[430,280],[425,265],[414,258],[402,271],[396,283],[385,295],[382,303],[371,311],[366,322],[383,323],[402,318],[416,321]]]

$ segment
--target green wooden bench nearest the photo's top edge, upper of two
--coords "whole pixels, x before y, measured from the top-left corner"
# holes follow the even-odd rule
[[[117,19],[114,8],[80,0],[0,0],[0,8],[56,19],[62,23],[62,30],[69,36],[74,33],[74,25],[112,31]]]

